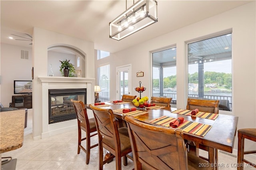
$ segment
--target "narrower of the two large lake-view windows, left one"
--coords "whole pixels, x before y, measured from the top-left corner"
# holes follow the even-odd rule
[[[176,104],[176,47],[153,53],[152,60],[153,96],[172,98]]]

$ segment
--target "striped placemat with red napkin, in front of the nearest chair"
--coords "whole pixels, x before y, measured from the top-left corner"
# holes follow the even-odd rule
[[[172,128],[170,126],[170,122],[172,122],[175,119],[176,118],[173,118],[173,117],[162,116],[162,117],[150,120],[149,122]],[[204,135],[206,135],[206,133],[212,128],[212,126],[184,120],[183,123],[180,123],[178,128],[182,129],[184,132],[204,137]]]

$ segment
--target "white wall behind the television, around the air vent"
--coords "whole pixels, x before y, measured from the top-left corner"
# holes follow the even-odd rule
[[[20,50],[29,51],[29,59],[20,59]],[[14,95],[13,80],[32,80],[32,46],[19,47],[1,43],[1,91],[0,101],[9,107]],[[16,95],[16,94],[15,94]]]

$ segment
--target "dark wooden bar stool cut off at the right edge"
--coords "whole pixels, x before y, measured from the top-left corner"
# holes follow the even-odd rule
[[[256,142],[256,128],[247,128],[247,129],[238,130],[238,154],[237,154],[238,165],[241,165],[244,162],[246,162],[247,164],[250,164],[250,166],[256,168],[255,163],[252,163],[244,159],[245,154],[256,153],[256,150],[244,151],[244,139],[249,139],[251,141]],[[237,169],[243,170],[244,166],[238,166]]]

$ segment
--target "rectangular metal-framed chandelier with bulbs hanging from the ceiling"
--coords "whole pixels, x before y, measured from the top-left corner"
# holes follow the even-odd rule
[[[157,21],[156,0],[138,0],[109,23],[109,37],[119,41]],[[134,29],[128,29],[131,26]]]

